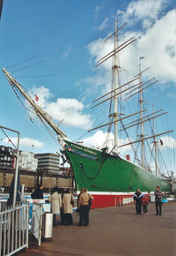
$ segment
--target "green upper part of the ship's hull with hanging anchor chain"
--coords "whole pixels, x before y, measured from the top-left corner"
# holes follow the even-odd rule
[[[153,192],[160,185],[163,192],[171,185],[161,177],[104,151],[84,147],[65,140],[64,153],[70,160],[77,190],[87,187],[93,192]]]

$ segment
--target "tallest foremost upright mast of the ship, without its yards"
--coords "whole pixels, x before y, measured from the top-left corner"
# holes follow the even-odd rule
[[[117,15],[115,15],[115,31],[114,34],[114,49],[117,49],[118,42],[117,42]],[[113,73],[114,73],[114,121],[118,119],[118,99],[115,95],[115,90],[117,88],[117,71],[118,71],[118,62],[117,62],[117,53],[114,54],[114,66],[113,66]],[[118,152],[118,122],[114,123],[114,152]]]

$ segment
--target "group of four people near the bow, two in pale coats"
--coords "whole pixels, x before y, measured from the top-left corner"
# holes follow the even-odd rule
[[[43,199],[43,185],[40,184],[32,193],[32,199]],[[86,188],[82,188],[77,197],[77,212],[79,213],[78,226],[89,225],[89,211],[92,205],[93,196],[88,193]],[[70,192],[70,188],[60,189],[57,186],[51,192],[48,201],[51,203],[53,213],[53,225],[57,226],[56,215],[61,216],[61,225],[73,225],[72,211],[75,200]]]

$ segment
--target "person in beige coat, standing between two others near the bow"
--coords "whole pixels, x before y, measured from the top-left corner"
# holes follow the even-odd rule
[[[62,198],[62,209],[64,214],[64,223],[66,226],[73,225],[72,210],[74,206],[74,198],[70,192],[70,188],[66,189]]]

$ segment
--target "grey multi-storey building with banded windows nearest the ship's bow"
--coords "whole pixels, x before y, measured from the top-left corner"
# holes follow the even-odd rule
[[[35,154],[38,159],[38,170],[43,173],[52,172],[59,174],[60,156],[53,153]]]

